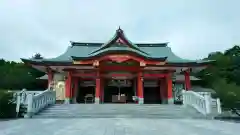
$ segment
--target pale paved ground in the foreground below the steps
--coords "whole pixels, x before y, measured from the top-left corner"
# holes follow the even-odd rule
[[[240,123],[196,119],[19,119],[0,135],[238,135]]]

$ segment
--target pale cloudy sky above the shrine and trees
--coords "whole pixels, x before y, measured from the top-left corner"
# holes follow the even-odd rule
[[[0,0],[0,58],[56,57],[69,41],[170,42],[200,59],[240,44],[239,0]]]

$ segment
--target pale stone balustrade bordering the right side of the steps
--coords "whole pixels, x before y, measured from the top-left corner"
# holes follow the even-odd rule
[[[192,106],[204,115],[211,113],[211,96],[209,95],[203,96],[197,92],[183,90],[183,104]]]

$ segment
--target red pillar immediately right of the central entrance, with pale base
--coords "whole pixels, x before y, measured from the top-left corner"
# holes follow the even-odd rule
[[[143,77],[142,72],[139,72],[137,75],[137,95],[138,95],[138,104],[144,103],[143,96]]]

